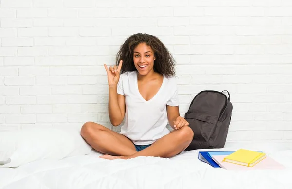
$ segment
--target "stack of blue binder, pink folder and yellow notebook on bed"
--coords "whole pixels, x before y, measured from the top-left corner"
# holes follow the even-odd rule
[[[262,151],[200,151],[201,161],[227,170],[283,169],[284,166]]]

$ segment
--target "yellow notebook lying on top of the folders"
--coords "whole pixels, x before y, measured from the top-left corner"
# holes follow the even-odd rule
[[[263,152],[239,149],[230,155],[227,155],[223,161],[253,167],[265,157],[266,154]]]

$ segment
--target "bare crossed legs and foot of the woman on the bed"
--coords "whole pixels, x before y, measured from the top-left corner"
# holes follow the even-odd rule
[[[142,151],[136,151],[134,144],[126,136],[114,132],[100,124],[86,122],[81,128],[81,136],[96,151],[107,155],[106,159],[128,159],[138,156],[169,158],[185,150],[193,139],[193,131],[188,126],[174,130],[155,141]]]

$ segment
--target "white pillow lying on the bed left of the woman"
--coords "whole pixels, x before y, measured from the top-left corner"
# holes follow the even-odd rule
[[[80,130],[30,128],[0,132],[0,167],[16,168],[42,159],[62,159],[88,154],[89,146]]]

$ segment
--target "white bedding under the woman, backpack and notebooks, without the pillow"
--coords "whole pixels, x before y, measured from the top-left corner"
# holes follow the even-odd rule
[[[99,158],[97,151],[61,160],[0,168],[0,189],[292,189],[291,144],[226,144],[223,149],[265,151],[283,170],[225,170],[198,159],[201,149],[172,158]]]

